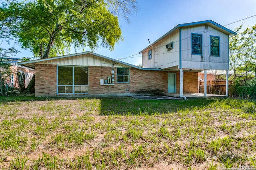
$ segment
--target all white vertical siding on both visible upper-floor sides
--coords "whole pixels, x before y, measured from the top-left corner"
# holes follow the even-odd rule
[[[208,25],[193,25],[191,27],[176,29],[164,39],[153,44],[154,49],[149,47],[142,52],[142,64],[144,68],[180,68],[180,43],[181,43],[181,68],[183,69],[216,69],[228,70],[228,39],[229,36]],[[202,55],[192,55],[192,33],[202,35]],[[220,37],[220,56],[210,56],[210,36]],[[165,45],[174,42],[174,49],[167,51]],[[152,59],[148,59],[148,51],[152,50]]]

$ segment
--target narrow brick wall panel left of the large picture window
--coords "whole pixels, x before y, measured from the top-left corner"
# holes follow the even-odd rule
[[[36,64],[35,70],[35,96],[56,96],[57,66]]]

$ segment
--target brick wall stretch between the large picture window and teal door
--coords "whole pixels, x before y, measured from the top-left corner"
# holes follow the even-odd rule
[[[100,79],[112,76],[112,67],[89,67],[89,94],[130,94],[139,90],[160,89],[167,92],[167,72],[130,68],[130,82],[117,82],[117,68],[114,67],[115,85],[100,85]]]

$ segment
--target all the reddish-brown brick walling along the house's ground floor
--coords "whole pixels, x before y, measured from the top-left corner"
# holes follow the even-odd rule
[[[36,64],[35,96],[56,96],[57,66]],[[114,67],[114,85],[100,85],[100,79],[111,77],[112,67],[89,66],[89,95],[134,94],[138,90],[160,89],[168,91],[168,71],[139,70],[130,68],[130,82],[117,82],[117,68]],[[169,71],[170,72],[170,71]],[[180,75],[176,73],[176,93],[180,91]],[[128,90],[127,90],[128,89]],[[198,73],[184,72],[184,93],[198,92]]]

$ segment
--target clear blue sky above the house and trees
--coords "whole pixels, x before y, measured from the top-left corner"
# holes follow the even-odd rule
[[[92,52],[138,65],[142,64],[139,52],[149,45],[148,39],[153,43],[178,24],[212,20],[230,30],[242,23],[242,30],[256,24],[256,0],[138,0],[138,6],[138,12],[130,17],[132,23],[119,19],[124,41],[116,43],[113,51],[100,47]],[[1,46],[13,45],[4,41]],[[15,58],[33,57],[29,50],[17,44],[14,47],[21,52]],[[84,51],[91,50],[85,48]],[[72,49],[70,54],[80,52],[82,49]]]

